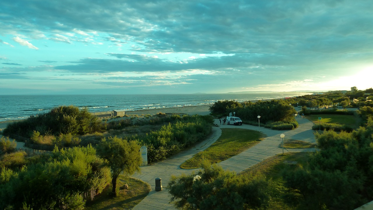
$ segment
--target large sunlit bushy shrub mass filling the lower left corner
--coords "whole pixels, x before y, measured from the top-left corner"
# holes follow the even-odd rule
[[[33,161],[36,159],[33,158]],[[26,163],[21,169],[0,167],[0,209],[60,209],[84,205],[78,195],[97,193],[110,183],[110,169],[93,147],[55,148],[49,157],[37,163]]]

